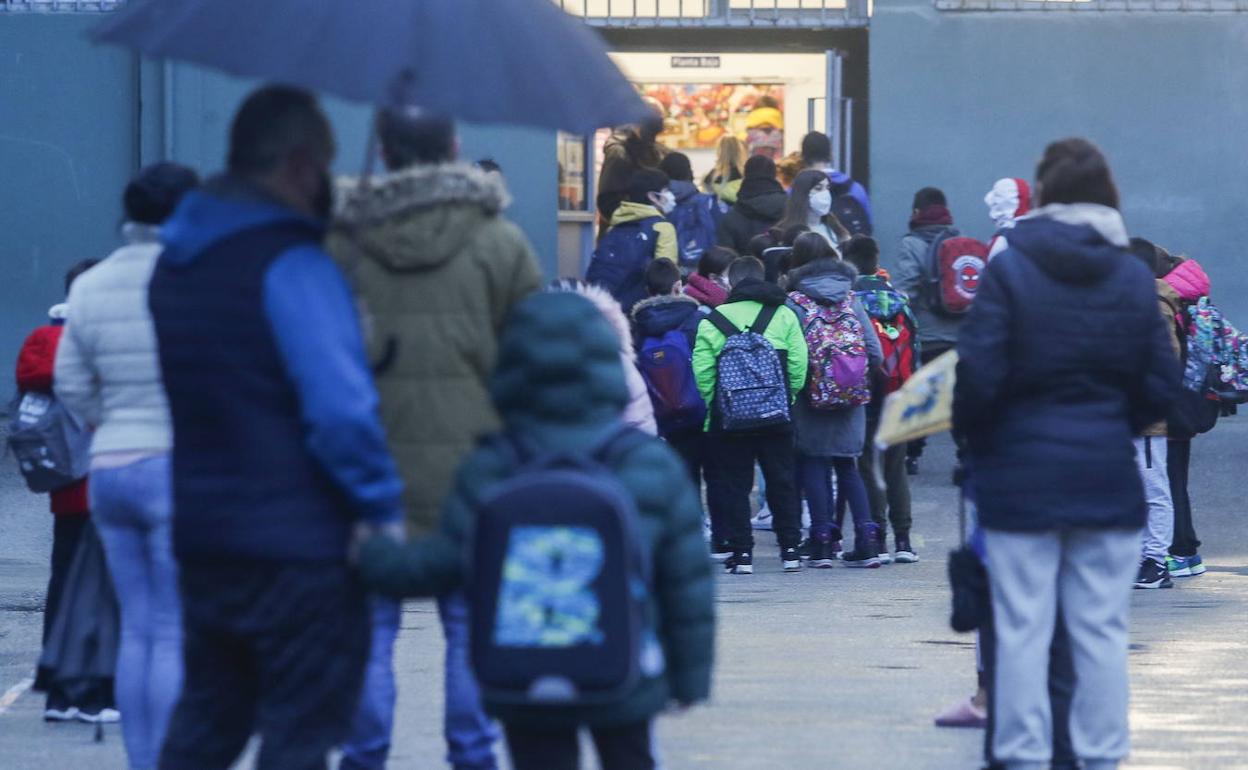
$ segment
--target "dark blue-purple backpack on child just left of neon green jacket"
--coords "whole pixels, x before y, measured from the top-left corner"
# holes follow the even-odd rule
[[[706,421],[706,402],[698,391],[693,352],[683,331],[646,337],[638,353],[636,368],[650,393],[660,436],[701,428]]]

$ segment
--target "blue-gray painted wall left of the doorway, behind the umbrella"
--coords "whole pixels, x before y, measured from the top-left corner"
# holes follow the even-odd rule
[[[99,19],[0,14],[0,372],[61,300],[65,270],[117,246],[131,175],[163,157],[205,173],[220,168],[230,119],[252,85],[92,46],[84,35]],[[333,100],[327,107],[337,171],[357,175],[369,112]],[[554,276],[554,136],[464,126],[462,140],[464,158],[502,163],[515,198],[508,215]],[[0,373],[0,399],[10,377]]]

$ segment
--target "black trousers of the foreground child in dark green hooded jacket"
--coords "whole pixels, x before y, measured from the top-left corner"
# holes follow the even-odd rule
[[[505,725],[514,770],[580,770],[577,728],[534,729]],[[589,731],[603,770],[654,770],[650,723]]]

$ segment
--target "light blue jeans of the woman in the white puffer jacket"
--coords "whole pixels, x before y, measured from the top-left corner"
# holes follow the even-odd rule
[[[182,691],[182,605],[167,454],[91,472],[91,512],[121,605],[117,708],[134,770],[156,768]]]

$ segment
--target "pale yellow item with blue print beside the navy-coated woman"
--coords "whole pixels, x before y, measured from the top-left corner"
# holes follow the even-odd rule
[[[957,352],[950,351],[889,396],[875,436],[876,448],[886,449],[952,428],[956,376]]]

